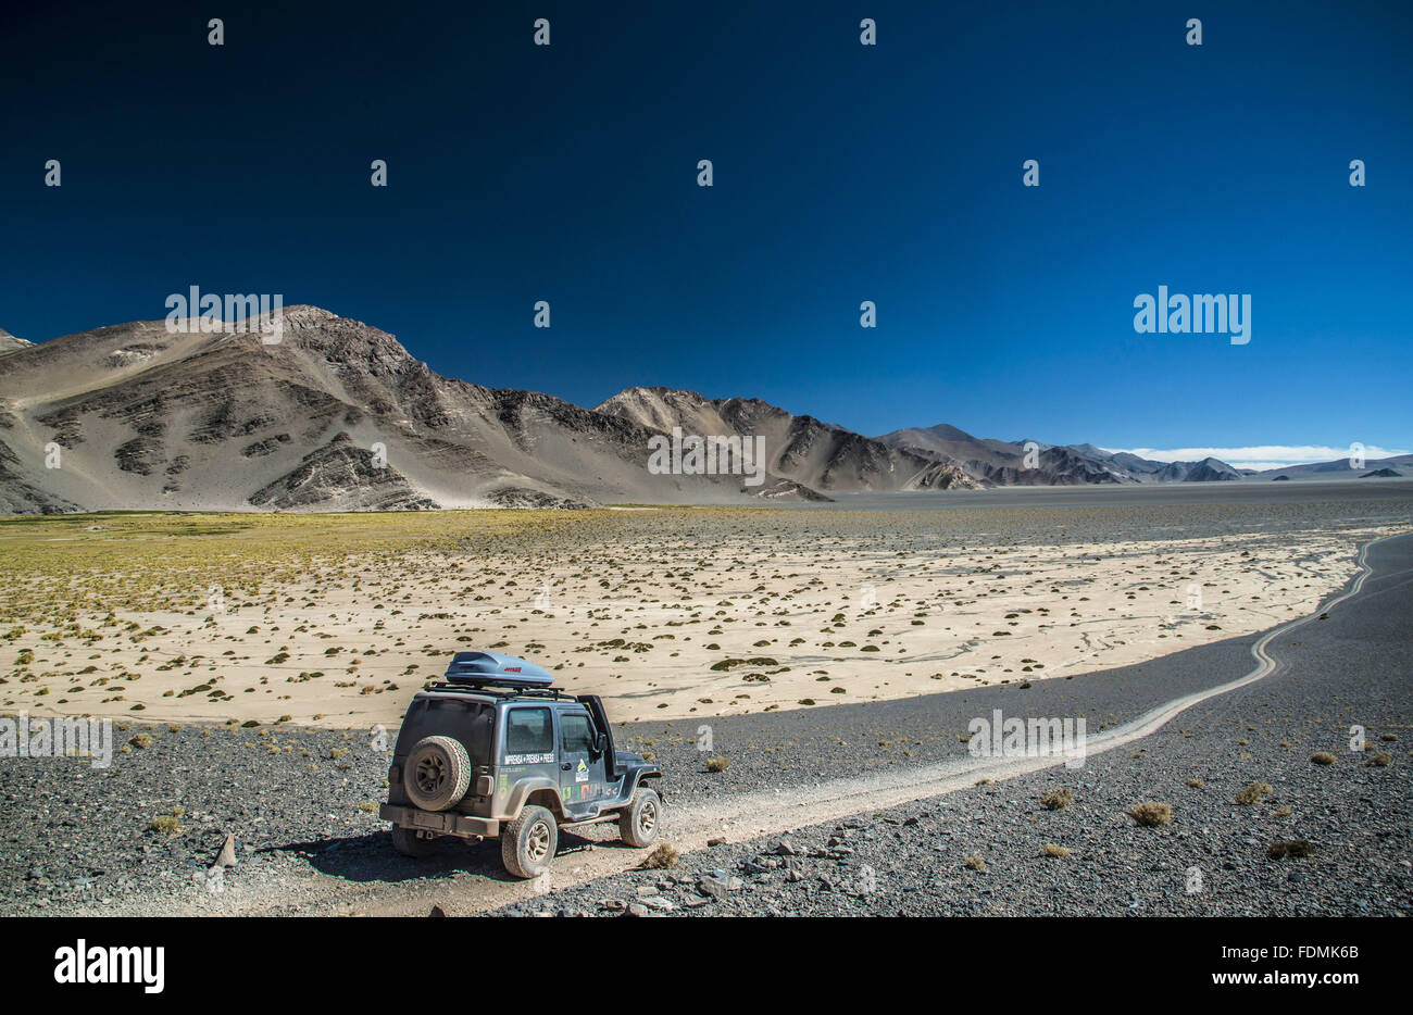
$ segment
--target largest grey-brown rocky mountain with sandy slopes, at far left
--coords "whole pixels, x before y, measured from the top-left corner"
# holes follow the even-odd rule
[[[0,356],[0,513],[817,499],[766,474],[653,475],[651,427],[442,377],[317,307],[283,338],[164,321]]]

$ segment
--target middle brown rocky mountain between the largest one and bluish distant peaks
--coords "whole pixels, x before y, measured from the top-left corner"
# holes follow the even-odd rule
[[[760,399],[708,399],[670,387],[629,387],[596,413],[649,430],[764,440],[771,475],[815,491],[975,489],[955,464],[893,448]]]

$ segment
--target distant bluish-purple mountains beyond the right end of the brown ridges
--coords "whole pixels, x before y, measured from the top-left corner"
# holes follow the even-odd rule
[[[1215,458],[1201,462],[1154,462],[1126,451],[1113,454],[1094,444],[1058,447],[1041,441],[1034,441],[1036,458],[1027,468],[1027,441],[978,438],[945,423],[926,430],[894,430],[875,440],[955,462],[966,475],[986,485],[1210,482],[1241,476],[1231,465]]]

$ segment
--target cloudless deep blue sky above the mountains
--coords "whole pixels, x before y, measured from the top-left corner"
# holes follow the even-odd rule
[[[18,6],[0,327],[30,339],[196,284],[585,406],[668,385],[868,434],[1413,442],[1409,4]],[[1251,344],[1135,334],[1160,284],[1251,293]]]

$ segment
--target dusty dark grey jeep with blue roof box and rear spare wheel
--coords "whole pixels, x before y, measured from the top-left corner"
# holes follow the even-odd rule
[[[617,821],[633,847],[651,845],[663,772],[613,748],[603,703],[564,694],[541,666],[492,652],[458,652],[442,683],[413,697],[387,772],[393,845],[427,857],[435,840],[500,838],[517,878],[550,869],[560,828]]]

